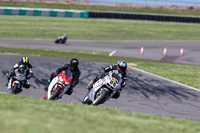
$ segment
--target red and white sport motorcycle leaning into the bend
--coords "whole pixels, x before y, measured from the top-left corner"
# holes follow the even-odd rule
[[[71,71],[63,70],[61,74],[58,74],[49,84],[48,91],[45,93],[46,100],[57,100],[62,98],[65,92],[72,84]]]

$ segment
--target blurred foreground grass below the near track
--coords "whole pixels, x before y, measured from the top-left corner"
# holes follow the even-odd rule
[[[198,121],[0,94],[3,133],[197,133]]]

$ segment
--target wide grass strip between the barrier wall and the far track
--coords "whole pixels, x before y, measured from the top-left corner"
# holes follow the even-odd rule
[[[0,15],[1,38],[70,40],[199,40],[200,25],[119,19]]]

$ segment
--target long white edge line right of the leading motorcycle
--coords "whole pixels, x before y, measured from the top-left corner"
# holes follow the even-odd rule
[[[149,75],[151,75],[151,76],[155,76],[155,77],[157,77],[157,78],[164,79],[164,80],[167,80],[167,81],[169,81],[169,82],[173,82],[173,83],[176,83],[176,84],[178,84],[178,85],[181,85],[181,86],[184,86],[184,87],[190,88],[190,89],[192,89],[192,90],[200,91],[199,89],[194,88],[194,87],[192,87],[192,86],[188,86],[188,85],[185,85],[185,84],[179,83],[179,82],[177,82],[177,81],[174,81],[174,80],[171,80],[171,79],[167,79],[167,78],[164,78],[164,77],[161,77],[161,76],[155,75],[155,74],[153,74],[153,73],[149,73],[149,72],[146,72],[146,71],[140,70],[140,69],[135,68],[135,67],[130,67],[130,66],[128,66],[128,67],[131,68],[131,69],[134,69],[134,70],[137,70],[137,71],[140,71],[140,72],[143,72],[143,73],[149,74]]]

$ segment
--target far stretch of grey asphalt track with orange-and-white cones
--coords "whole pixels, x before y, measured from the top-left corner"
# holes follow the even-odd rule
[[[65,45],[54,44],[54,40],[1,39],[0,46],[32,47],[53,49],[85,49],[112,52],[113,56],[151,59],[164,62],[200,65],[200,41],[76,41],[68,40]],[[144,54],[140,54],[141,47]],[[167,55],[163,55],[167,48]],[[184,56],[180,56],[183,48]]]

